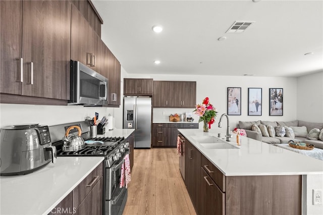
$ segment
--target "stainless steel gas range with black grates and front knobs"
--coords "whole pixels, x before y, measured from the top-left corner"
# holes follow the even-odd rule
[[[77,151],[62,151],[62,141],[59,138],[64,136],[65,129],[71,125],[80,126],[82,137],[85,140],[101,141],[103,143],[86,144],[83,149]],[[89,128],[87,122],[77,122],[49,127],[50,135],[54,139],[53,145],[57,147],[57,156],[104,156],[103,169],[103,214],[122,214],[128,196],[126,187],[120,188],[121,169],[124,158],[129,154],[129,142],[124,137],[98,137],[88,138]],[[64,131],[64,132],[63,132]],[[62,133],[63,132],[63,133]],[[61,135],[59,135],[60,133]]]

